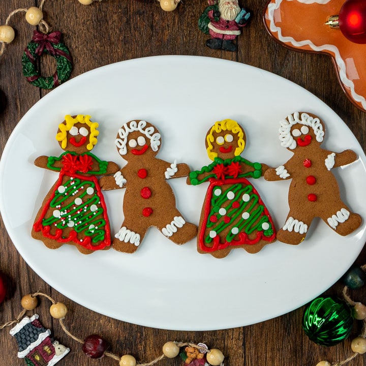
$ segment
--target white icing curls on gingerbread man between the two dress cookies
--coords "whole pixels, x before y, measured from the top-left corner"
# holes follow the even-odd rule
[[[161,135],[158,132],[155,132],[155,128],[153,126],[146,127],[146,121],[140,120],[138,123],[135,120],[132,120],[128,123],[125,123],[119,130],[118,136],[114,143],[118,148],[118,153],[120,155],[127,154],[127,137],[130,132],[139,131],[144,134],[150,140],[150,146],[153,151],[158,151],[160,145]],[[154,133],[155,132],[155,133]]]

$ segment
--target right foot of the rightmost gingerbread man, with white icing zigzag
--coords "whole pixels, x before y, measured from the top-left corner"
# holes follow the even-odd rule
[[[358,214],[350,212],[346,206],[343,206],[336,212],[328,212],[322,219],[338,234],[345,236],[356,230],[362,222]]]

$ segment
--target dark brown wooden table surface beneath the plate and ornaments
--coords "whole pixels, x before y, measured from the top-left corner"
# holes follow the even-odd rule
[[[37,0],[3,0],[0,22],[4,24],[14,9],[38,6],[39,3]],[[237,39],[238,50],[233,53],[205,47],[207,36],[197,28],[197,19],[205,5],[205,0],[184,0],[174,12],[167,13],[160,9],[156,0],[105,0],[91,6],[83,6],[77,0],[48,0],[44,11],[45,20],[63,33],[73,55],[72,77],[121,60],[162,54],[235,60],[281,75],[308,89],[338,113],[361,145],[366,146],[366,114],[346,98],[331,59],[325,55],[290,51],[273,41],[262,23],[265,0],[246,2],[245,5],[253,10],[253,21],[243,29]],[[34,27],[20,14],[13,18],[11,25],[16,28],[16,39],[7,46],[0,59],[2,148],[24,113],[47,94],[45,90],[28,84],[22,76],[21,54],[32,38]],[[43,75],[53,73],[55,65],[51,57],[43,57],[41,65]],[[67,304],[69,314],[65,323],[78,337],[99,333],[111,343],[111,352],[119,355],[131,353],[139,362],[159,356],[162,345],[168,340],[203,341],[212,348],[219,348],[226,355],[227,366],[315,366],[320,360],[337,361],[351,354],[350,340],[331,348],[310,342],[301,330],[303,308],[260,324],[207,332],[167,331],[117,321],[79,306],[47,285],[19,256],[3,223],[0,240],[0,270],[6,273],[9,281],[8,298],[0,306],[0,323],[17,316],[24,294],[40,290]],[[365,259],[366,252],[363,251],[356,262],[361,265]],[[336,284],[327,293],[340,294],[341,289],[342,286]],[[364,289],[352,293],[358,301],[363,300],[365,294]],[[60,365],[118,364],[109,357],[101,360],[87,358],[80,345],[69,339],[59,323],[49,316],[48,308],[48,301],[42,300],[37,308],[40,319],[52,329],[55,338],[72,350],[59,362]],[[16,359],[16,342],[8,330],[0,332],[0,364],[22,364],[22,360]],[[356,334],[355,330],[351,338]],[[180,365],[182,362],[178,357],[159,364]],[[366,364],[366,359],[358,356],[351,364],[360,366]]]

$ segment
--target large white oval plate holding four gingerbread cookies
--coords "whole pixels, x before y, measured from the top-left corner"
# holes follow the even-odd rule
[[[365,224],[339,236],[314,221],[298,246],[281,242],[257,254],[233,250],[223,259],[201,255],[196,240],[176,246],[150,228],[135,254],[82,255],[73,246],[47,249],[31,228],[57,173],[33,165],[40,155],[62,153],[55,140],[66,114],[90,114],[100,124],[93,153],[124,165],[114,146],[118,128],[131,119],[158,127],[158,158],[209,164],[204,139],[217,120],[237,120],[247,134],[242,156],[279,166],[291,154],[280,146],[279,120],[294,111],[317,114],[326,124],[323,147],[352,148],[355,163],[334,169],[342,198],[366,218],[364,153],[329,107],[307,90],[266,71],[195,56],[133,59],[80,75],[42,98],[14,129],[0,163],[0,209],[20,255],[50,286],[101,314],[156,328],[212,330],[264,321],[302,306],[336,282],[361,251]],[[198,224],[207,186],[171,179],[177,206]],[[287,213],[289,181],[253,181],[277,227]],[[123,221],[124,190],[105,192],[112,232]]]

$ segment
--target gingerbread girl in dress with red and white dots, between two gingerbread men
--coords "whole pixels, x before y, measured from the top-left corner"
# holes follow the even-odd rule
[[[218,121],[206,134],[208,157],[214,161],[190,173],[188,184],[209,182],[198,227],[197,250],[217,258],[232,249],[259,252],[276,240],[276,230],[259,193],[247,177],[268,168],[242,158],[246,135],[232,119]]]

